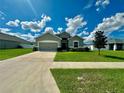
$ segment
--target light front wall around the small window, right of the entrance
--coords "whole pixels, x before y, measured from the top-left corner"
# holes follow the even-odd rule
[[[79,38],[79,37],[72,37],[69,39],[69,48],[74,48],[74,41],[79,42],[79,48],[83,47],[83,39]]]

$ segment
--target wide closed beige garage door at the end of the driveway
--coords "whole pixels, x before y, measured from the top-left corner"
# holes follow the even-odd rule
[[[56,42],[40,42],[39,50],[40,51],[56,51],[58,43]]]

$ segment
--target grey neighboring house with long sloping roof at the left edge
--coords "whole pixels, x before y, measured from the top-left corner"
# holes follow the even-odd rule
[[[31,48],[31,42],[0,32],[0,49]]]

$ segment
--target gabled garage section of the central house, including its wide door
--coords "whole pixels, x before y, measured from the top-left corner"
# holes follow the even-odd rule
[[[61,38],[45,33],[36,39],[40,51],[56,51],[61,46]]]

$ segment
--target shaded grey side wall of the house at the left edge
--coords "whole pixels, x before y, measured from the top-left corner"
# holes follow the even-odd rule
[[[0,40],[0,49],[17,48],[19,44],[14,41]]]

